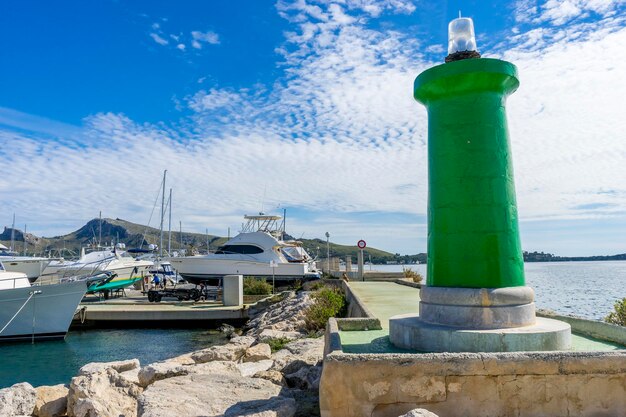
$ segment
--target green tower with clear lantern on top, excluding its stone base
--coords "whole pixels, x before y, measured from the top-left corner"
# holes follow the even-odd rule
[[[475,50],[472,20],[450,22],[447,63],[421,73],[428,108],[428,285],[524,285],[506,98],[519,86],[509,62]]]

